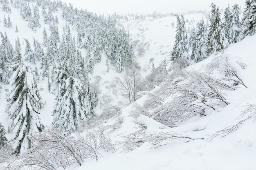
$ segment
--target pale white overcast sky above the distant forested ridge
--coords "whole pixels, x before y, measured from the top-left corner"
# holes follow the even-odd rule
[[[64,0],[63,2],[71,3],[74,7],[87,9],[97,14],[112,14],[125,15],[127,13],[170,13],[183,12],[193,10],[207,10],[211,2],[218,4],[220,9],[227,7],[228,4],[239,4],[242,8],[244,0],[94,0],[94,1],[79,1],[79,0]]]

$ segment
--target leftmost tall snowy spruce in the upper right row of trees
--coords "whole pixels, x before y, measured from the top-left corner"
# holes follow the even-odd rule
[[[171,54],[171,60],[175,61],[177,59],[184,60],[187,63],[189,58],[188,49],[188,37],[186,33],[185,21],[183,15],[176,16],[177,26],[175,35],[175,44],[173,47],[173,52]]]

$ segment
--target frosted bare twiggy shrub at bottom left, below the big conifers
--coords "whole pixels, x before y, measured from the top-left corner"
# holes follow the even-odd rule
[[[51,127],[31,137],[33,147],[10,164],[10,169],[56,170],[79,165],[85,159],[98,159],[97,151],[81,136],[64,136]]]

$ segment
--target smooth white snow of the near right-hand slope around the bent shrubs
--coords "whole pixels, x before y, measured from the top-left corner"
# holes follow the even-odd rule
[[[252,119],[246,121],[236,132],[226,137],[221,138],[222,135],[220,135],[211,141],[207,138],[218,130],[237,124],[242,119],[239,116],[245,109],[244,106],[256,103],[256,77],[254,76],[256,60],[252,57],[256,53],[255,43],[256,35],[247,37],[242,42],[231,45],[222,55],[230,60],[241,60],[248,65],[245,70],[238,72],[248,88],[239,85],[236,91],[228,93],[226,95],[227,101],[230,102],[228,106],[219,108],[218,111],[212,110],[206,117],[193,117],[174,128],[168,128],[143,115],[137,118],[137,121],[147,126],[146,133],[174,131],[197,139],[188,142],[186,139],[177,139],[151,150],[151,146],[144,143],[128,153],[119,148],[116,153],[104,155],[98,162],[87,161],[77,169],[254,170],[256,165],[254,160],[256,157],[255,121]],[[219,56],[220,54],[210,56],[188,69],[204,71],[206,65]],[[142,97],[137,102],[142,104],[144,99]],[[122,128],[111,134],[113,141],[120,141],[122,140],[120,135],[127,135],[135,130],[135,124],[132,122],[134,118],[128,113],[131,107],[124,108],[121,115],[124,117],[124,123]]]

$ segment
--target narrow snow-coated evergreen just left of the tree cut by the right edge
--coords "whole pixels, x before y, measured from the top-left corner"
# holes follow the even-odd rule
[[[231,13],[231,23],[230,23],[230,38],[231,44],[238,42],[240,34],[240,7],[238,4],[234,4]]]

